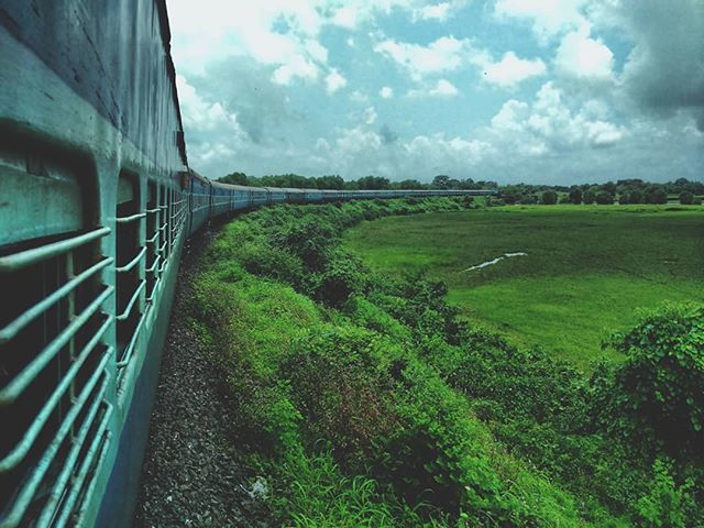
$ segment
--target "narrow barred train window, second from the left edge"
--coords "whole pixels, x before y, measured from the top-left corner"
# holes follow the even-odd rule
[[[121,172],[116,215],[116,320],[118,375],[122,378],[143,322],[146,248],[142,243],[146,212],[142,210],[140,178]]]

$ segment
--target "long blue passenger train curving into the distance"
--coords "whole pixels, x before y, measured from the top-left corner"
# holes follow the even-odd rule
[[[0,528],[130,526],[184,242],[273,204],[186,156],[165,0],[0,3]]]

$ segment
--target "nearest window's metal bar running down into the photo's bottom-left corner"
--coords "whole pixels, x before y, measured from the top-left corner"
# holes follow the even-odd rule
[[[89,399],[92,389],[98,384],[100,377],[103,377],[102,387],[99,394],[105,394],[107,385],[108,385],[108,375],[105,372],[106,365],[108,364],[108,359],[112,355],[112,348],[108,348],[106,353],[100,361],[98,369],[95,370],[90,378],[87,381],[80,394],[76,397],[76,400],[72,408],[66,413],[62,425],[59,426],[56,435],[54,436],[54,440],[48,444],[41,459],[38,460],[34,471],[30,474],[29,479],[23,483],[24,485],[18,493],[14,504],[11,506],[10,510],[6,515],[3,519],[3,528],[6,527],[14,527],[18,526],[24,514],[26,513],[30,504],[32,503],[32,497],[34,497],[44,475],[48,471],[56,453],[59,448],[64,443],[64,439],[73,430],[74,422],[76,418],[82,410],[84,406]],[[101,398],[95,398],[92,405],[98,405]],[[63,471],[66,471],[65,468]]]

